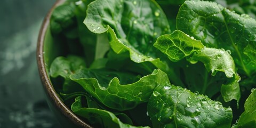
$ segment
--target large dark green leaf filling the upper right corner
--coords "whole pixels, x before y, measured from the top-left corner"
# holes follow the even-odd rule
[[[230,50],[239,74],[251,76],[256,67],[256,21],[206,1],[186,1],[177,16],[177,29],[207,47]]]

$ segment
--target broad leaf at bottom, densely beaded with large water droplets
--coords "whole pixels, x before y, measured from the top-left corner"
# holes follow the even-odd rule
[[[231,108],[225,108],[198,92],[161,84],[148,102],[154,127],[230,127]]]

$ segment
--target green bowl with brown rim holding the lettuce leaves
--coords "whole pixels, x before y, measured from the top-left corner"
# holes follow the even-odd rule
[[[63,0],[57,0],[47,13],[41,30],[39,31],[37,41],[37,65],[42,85],[46,93],[47,103],[63,127],[92,127],[77,117],[60,99],[58,93],[54,90],[49,76],[49,65],[55,57],[61,53],[58,44],[53,43],[50,30],[50,18],[55,7],[63,3]]]

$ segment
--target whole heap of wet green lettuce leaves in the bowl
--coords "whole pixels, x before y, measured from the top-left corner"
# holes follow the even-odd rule
[[[253,5],[66,0],[50,20],[51,81],[93,127],[253,127]]]

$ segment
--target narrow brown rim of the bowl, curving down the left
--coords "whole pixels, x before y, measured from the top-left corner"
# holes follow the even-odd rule
[[[88,127],[92,128],[89,124],[86,124],[82,119],[76,116],[66,105],[61,101],[57,92],[54,90],[54,87],[51,83],[50,78],[46,73],[46,68],[44,64],[44,57],[43,57],[43,48],[44,48],[44,41],[45,35],[47,31],[47,27],[50,25],[50,18],[53,10],[58,5],[65,2],[65,0],[57,0],[54,5],[51,7],[50,11],[46,14],[46,17],[43,20],[41,29],[39,31],[38,39],[37,39],[37,50],[36,50],[36,58],[37,58],[37,66],[39,75],[41,77],[43,88],[46,92],[47,97],[53,102],[54,107],[57,107],[61,114],[71,120],[72,123],[79,127]]]

